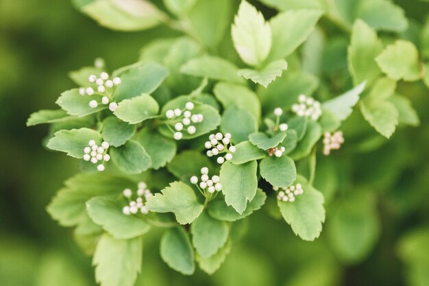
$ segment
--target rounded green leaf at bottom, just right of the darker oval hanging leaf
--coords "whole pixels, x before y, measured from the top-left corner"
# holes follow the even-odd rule
[[[211,257],[226,243],[229,228],[226,222],[203,211],[191,224],[192,243],[201,257]]]

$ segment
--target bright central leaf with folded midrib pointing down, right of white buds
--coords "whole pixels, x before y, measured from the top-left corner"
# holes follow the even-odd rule
[[[247,201],[252,201],[256,195],[256,189],[258,189],[257,166],[256,161],[252,161],[241,165],[225,162],[221,167],[220,178],[225,202],[239,214],[245,211]]]

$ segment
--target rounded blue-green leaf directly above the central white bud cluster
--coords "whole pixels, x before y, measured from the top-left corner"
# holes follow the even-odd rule
[[[258,122],[246,110],[231,106],[222,115],[221,131],[231,134],[233,143],[246,141],[249,134],[258,131]]]

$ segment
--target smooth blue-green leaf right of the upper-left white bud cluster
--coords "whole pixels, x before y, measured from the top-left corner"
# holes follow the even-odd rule
[[[121,84],[114,92],[114,99],[121,102],[143,93],[153,93],[162,84],[169,70],[155,62],[138,63],[118,73]]]

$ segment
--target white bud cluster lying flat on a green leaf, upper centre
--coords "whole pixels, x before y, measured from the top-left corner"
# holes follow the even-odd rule
[[[194,104],[192,102],[186,102],[183,110],[176,108],[175,110],[169,109],[165,112],[165,117],[169,119],[169,121],[167,121],[167,126],[169,126],[170,130],[173,132],[174,139],[182,139],[182,132],[184,131],[191,135],[197,132],[197,128],[191,125],[191,123],[200,123],[204,120],[204,117],[201,114],[192,114],[191,110],[193,109]],[[171,126],[173,126],[174,130]]]

